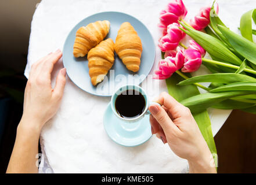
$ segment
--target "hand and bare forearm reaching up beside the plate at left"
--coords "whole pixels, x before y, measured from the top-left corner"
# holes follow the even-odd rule
[[[50,53],[32,65],[24,95],[23,116],[17,128],[15,146],[6,173],[38,172],[38,140],[42,126],[59,109],[66,84],[66,69],[61,69],[52,89],[53,66],[62,51]]]

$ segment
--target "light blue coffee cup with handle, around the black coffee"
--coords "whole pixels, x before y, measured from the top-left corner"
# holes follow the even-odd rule
[[[115,102],[116,102],[116,99],[118,97],[118,95],[122,94],[122,92],[124,91],[127,91],[127,90],[135,90],[137,92],[140,92],[144,99],[145,99],[145,102],[146,102],[146,106],[145,106],[145,109],[144,111],[137,117],[132,117],[132,118],[124,118],[124,117],[121,117],[118,113],[117,113],[117,110],[116,110],[116,107],[115,107]],[[136,86],[136,85],[125,85],[125,86],[122,86],[120,88],[118,88],[116,90],[116,92],[114,92],[114,94],[112,95],[111,97],[111,109],[113,111],[113,113],[121,120],[125,121],[125,122],[135,122],[135,121],[138,121],[140,119],[142,119],[142,117],[144,117],[145,115],[147,114],[150,114],[149,112],[149,106],[150,105],[153,105],[153,104],[156,104],[156,105],[160,105],[159,103],[156,103],[156,102],[152,102],[152,101],[149,101],[149,98],[147,97],[147,94],[145,92],[145,90],[143,90],[143,88],[141,88],[140,86]],[[125,106],[125,105],[124,105]],[[136,106],[136,104],[134,105]]]

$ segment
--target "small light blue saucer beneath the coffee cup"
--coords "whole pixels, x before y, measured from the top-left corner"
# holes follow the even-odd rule
[[[152,136],[149,114],[136,122],[125,122],[113,113],[110,103],[104,113],[103,125],[107,135],[122,146],[138,146]]]

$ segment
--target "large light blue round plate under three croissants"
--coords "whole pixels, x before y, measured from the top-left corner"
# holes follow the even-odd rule
[[[111,71],[111,75],[109,72],[103,82],[94,87],[91,84],[91,78],[89,76],[88,60],[86,57],[75,58],[73,56],[73,45],[77,29],[98,20],[110,21],[110,31],[106,38],[112,38],[114,41],[116,40],[120,25],[125,21],[131,23],[131,25],[137,31],[140,39],[142,40],[143,51],[140,69],[138,72],[134,73],[128,71],[125,65],[122,64],[120,58],[118,58],[116,55],[114,65],[111,68],[113,69]],[[70,77],[74,84],[76,84],[82,90],[94,95],[111,96],[114,90],[118,88],[118,86],[122,86],[128,83],[133,83],[136,85],[142,83],[142,81],[145,80],[146,76],[149,75],[149,72],[152,69],[155,54],[156,51],[152,35],[146,26],[142,24],[138,19],[120,12],[102,12],[85,18],[80,23],[75,25],[75,27],[70,31],[66,42],[64,43],[63,65],[67,69],[68,77]]]

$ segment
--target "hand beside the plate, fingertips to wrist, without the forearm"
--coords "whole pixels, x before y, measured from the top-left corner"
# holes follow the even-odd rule
[[[66,69],[63,68],[59,71],[55,88],[51,86],[51,73],[53,66],[61,57],[62,51],[57,50],[31,66],[20,124],[30,124],[25,126],[41,131],[46,121],[51,119],[59,109],[66,84]]]

